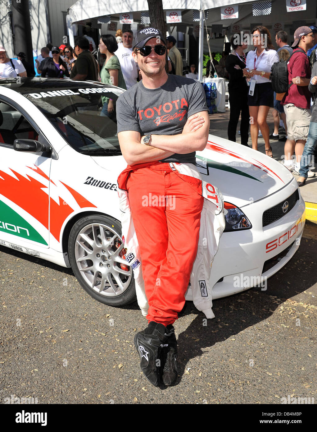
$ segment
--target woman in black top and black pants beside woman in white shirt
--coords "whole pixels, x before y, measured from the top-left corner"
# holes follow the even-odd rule
[[[226,58],[226,70],[229,73],[229,104],[230,120],[228,124],[228,139],[235,142],[235,133],[241,112],[241,144],[248,146],[249,132],[249,107],[248,107],[248,85],[246,77],[249,73],[245,67],[245,54],[243,50],[248,48],[247,44],[240,41],[240,35],[233,35],[230,39],[233,53]]]

